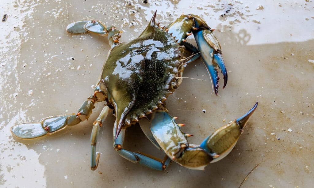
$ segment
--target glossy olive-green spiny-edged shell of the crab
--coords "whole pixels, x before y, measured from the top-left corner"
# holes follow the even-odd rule
[[[161,107],[181,83],[184,50],[153,19],[137,39],[112,48],[101,79],[118,123],[134,124]]]

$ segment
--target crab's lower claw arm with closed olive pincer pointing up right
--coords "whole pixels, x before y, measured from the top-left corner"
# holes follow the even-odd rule
[[[184,134],[181,125],[163,110],[153,112],[150,129],[160,147],[173,161],[189,169],[204,170],[209,163],[230,153],[256,107],[257,103],[241,118],[217,129],[200,146],[189,145],[187,137],[190,135]]]

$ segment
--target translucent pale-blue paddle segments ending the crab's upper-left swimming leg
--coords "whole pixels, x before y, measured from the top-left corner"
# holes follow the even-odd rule
[[[91,32],[99,35],[106,35],[108,33],[106,26],[95,20],[73,22],[68,25],[67,32],[71,34],[83,34]]]

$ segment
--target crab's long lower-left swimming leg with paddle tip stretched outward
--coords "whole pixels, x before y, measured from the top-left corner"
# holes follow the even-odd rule
[[[11,127],[11,133],[22,139],[38,138],[46,134],[56,133],[67,126],[73,126],[88,119],[93,108],[95,108],[95,102],[104,101],[105,98],[105,93],[96,87],[94,94],[86,99],[78,113],[43,118],[41,122],[21,123]]]

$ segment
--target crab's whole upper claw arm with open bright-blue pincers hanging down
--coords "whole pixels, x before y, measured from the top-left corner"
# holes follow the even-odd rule
[[[218,95],[218,68],[221,69],[224,76],[223,88],[227,84],[228,73],[221,56],[221,46],[213,34],[214,29],[211,29],[206,22],[197,15],[182,14],[175,22],[170,24],[166,30],[168,33],[172,33],[172,36],[175,36],[178,43],[181,45],[184,45],[186,38],[189,35],[194,35],[198,50],[201,52],[200,55],[212,77],[214,91],[216,95]],[[190,47],[190,45],[184,46]]]

